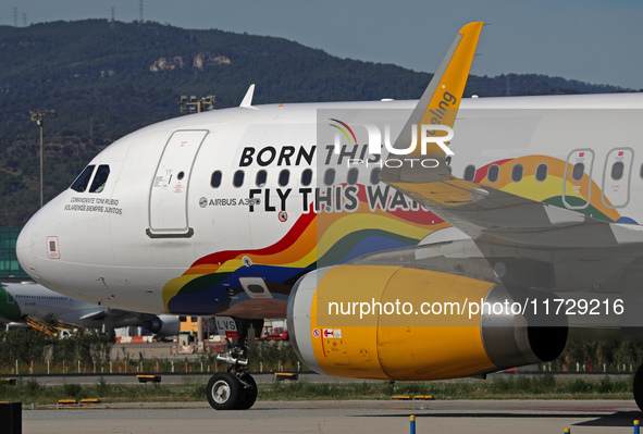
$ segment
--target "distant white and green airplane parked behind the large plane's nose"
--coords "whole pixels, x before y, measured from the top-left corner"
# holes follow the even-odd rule
[[[181,323],[174,315],[108,309],[70,298],[34,282],[0,284],[0,319],[26,322],[50,335],[60,327],[85,327],[109,332],[143,326],[154,334],[174,336]]]

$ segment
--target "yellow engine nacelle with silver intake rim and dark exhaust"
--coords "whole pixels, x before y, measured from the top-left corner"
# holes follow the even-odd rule
[[[553,360],[565,347],[566,321],[534,325],[529,312],[543,295],[533,293],[511,296],[495,283],[430,270],[337,265],[297,282],[288,333],[310,369],[333,376],[481,375]]]

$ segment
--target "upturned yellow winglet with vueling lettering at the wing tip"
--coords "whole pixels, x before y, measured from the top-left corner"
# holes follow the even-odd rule
[[[405,127],[395,140],[394,148],[400,150],[409,149],[413,145],[412,140],[416,139],[418,146],[415,146],[415,149],[409,154],[445,153],[444,149],[431,141],[426,144],[426,149],[423,150],[420,141],[422,132],[424,135],[431,135],[433,137],[448,136],[448,132],[441,129],[426,131],[425,127],[422,131],[421,125],[440,124],[449,128],[454,127],[456,114],[460,107],[460,100],[462,99],[462,92],[465,91],[465,85],[469,77],[469,70],[471,69],[475,53],[475,47],[480,38],[480,32],[482,30],[482,22],[470,23],[460,29]],[[413,125],[416,125],[415,132]],[[447,140],[445,137],[444,141]],[[383,181],[389,178],[389,175],[395,172],[398,171],[383,170]]]

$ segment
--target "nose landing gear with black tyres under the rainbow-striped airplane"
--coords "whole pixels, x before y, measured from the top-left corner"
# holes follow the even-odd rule
[[[257,383],[252,375],[246,370],[248,369],[248,347],[247,342],[251,339],[254,345],[255,336],[249,330],[256,330],[255,325],[259,325],[261,331],[263,321],[260,324],[257,321],[242,321],[239,330],[239,338],[233,339],[231,343],[227,338],[227,352],[222,356],[217,356],[217,360],[226,362],[226,372],[219,372],[208,382],[207,396],[208,402],[214,410],[247,410],[257,400]],[[248,338],[249,337],[249,338]]]

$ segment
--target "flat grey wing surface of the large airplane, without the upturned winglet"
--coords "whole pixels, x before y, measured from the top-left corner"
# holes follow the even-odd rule
[[[448,173],[443,156],[422,178],[387,176],[383,181],[405,193],[474,240],[540,248],[609,248],[643,243],[638,225],[607,223],[579,212],[541,203]]]

